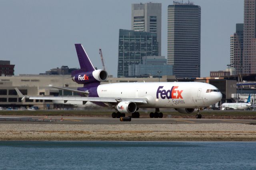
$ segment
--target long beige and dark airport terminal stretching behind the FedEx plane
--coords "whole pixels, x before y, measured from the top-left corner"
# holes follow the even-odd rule
[[[222,103],[236,99],[236,81],[226,79],[216,79],[215,77],[206,77],[198,79],[176,79],[175,76],[162,76],[161,77],[108,77],[102,83],[136,83],[136,82],[173,82],[173,81],[200,81],[210,83],[216,86],[222,93]],[[77,89],[83,85],[77,84],[70,78],[70,75],[20,75],[0,77],[0,107],[12,107],[19,109],[20,107],[36,106],[39,109],[68,109],[68,108],[81,108],[85,109],[82,101],[52,101],[52,100],[29,100],[21,98],[17,95],[15,87],[17,87],[23,95],[32,96],[77,96],[77,93],[55,89],[48,87],[48,85],[56,87],[65,87],[69,89]],[[242,97],[243,95],[240,95]],[[248,95],[244,95],[245,98]],[[254,97],[252,97],[254,98]],[[86,108],[90,102],[86,103]],[[220,105],[220,103],[218,104]]]

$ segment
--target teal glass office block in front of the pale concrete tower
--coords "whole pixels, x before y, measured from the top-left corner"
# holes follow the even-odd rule
[[[143,56],[158,56],[156,33],[120,29],[117,77],[128,77],[129,65],[142,63]]]

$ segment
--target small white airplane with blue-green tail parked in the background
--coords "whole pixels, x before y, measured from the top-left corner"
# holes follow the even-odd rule
[[[228,109],[245,110],[252,105],[250,102],[251,102],[251,94],[249,94],[246,103],[223,103],[221,107],[222,107],[222,110],[228,110]]]

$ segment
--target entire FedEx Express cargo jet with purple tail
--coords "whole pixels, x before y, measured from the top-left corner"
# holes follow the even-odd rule
[[[138,109],[155,108],[150,113],[150,118],[162,118],[161,108],[174,108],[180,113],[193,113],[198,109],[196,115],[200,119],[202,115],[199,110],[217,103],[222,98],[220,91],[208,83],[201,82],[156,82],[156,83],[110,83],[100,84],[106,81],[108,73],[105,70],[95,69],[86,51],[81,44],[75,44],[80,69],[72,71],[72,80],[83,87],[77,90],[54,87],[73,91],[80,94],[80,97],[40,97],[24,96],[16,88],[22,99],[46,99],[67,101],[87,101],[103,107],[110,107],[116,110],[112,113],[113,118],[125,117],[125,114],[132,114],[132,117],[140,117]]]

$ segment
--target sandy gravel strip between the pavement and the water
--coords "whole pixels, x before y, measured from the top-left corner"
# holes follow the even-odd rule
[[[0,124],[0,140],[256,141],[256,125]]]

